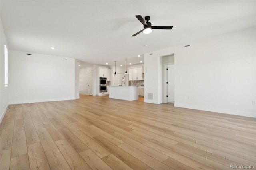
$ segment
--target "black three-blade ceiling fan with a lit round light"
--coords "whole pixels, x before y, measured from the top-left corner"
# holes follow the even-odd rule
[[[146,16],[145,20],[142,18],[141,15],[136,15],[136,18],[138,18],[138,20],[143,24],[144,28],[142,30],[140,30],[139,32],[137,32],[136,34],[133,34],[132,37],[136,36],[137,34],[140,34],[142,31],[145,34],[149,34],[150,32],[152,32],[151,29],[172,29],[173,26],[151,26],[151,22],[149,22],[150,20],[150,16]]]

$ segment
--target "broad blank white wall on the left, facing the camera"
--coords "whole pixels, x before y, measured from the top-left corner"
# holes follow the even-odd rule
[[[10,104],[72,100],[77,93],[76,59],[9,51]],[[77,65],[77,66],[76,66]],[[78,78],[77,78],[78,77]]]

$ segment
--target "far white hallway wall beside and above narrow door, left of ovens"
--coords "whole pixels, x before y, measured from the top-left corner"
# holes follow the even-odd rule
[[[80,67],[79,69],[79,93],[88,95],[88,73],[93,73],[93,65]]]

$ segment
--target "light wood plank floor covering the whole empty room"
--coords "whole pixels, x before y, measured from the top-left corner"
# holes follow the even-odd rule
[[[254,118],[143,98],[10,105],[0,125],[0,170],[256,167],[255,128]]]

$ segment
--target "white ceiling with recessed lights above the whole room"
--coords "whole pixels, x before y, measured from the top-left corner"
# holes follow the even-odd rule
[[[125,58],[140,64],[144,53],[253,27],[255,6],[255,0],[1,0],[0,14],[9,49],[125,65]],[[131,37],[143,29],[135,15],[173,28]]]

